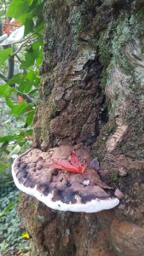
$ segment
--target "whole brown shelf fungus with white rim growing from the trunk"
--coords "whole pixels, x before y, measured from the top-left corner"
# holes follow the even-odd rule
[[[85,148],[65,145],[48,152],[33,148],[14,160],[14,183],[55,210],[100,212],[116,207],[119,200],[113,189],[101,181],[89,161]],[[65,164],[75,172],[67,171]]]

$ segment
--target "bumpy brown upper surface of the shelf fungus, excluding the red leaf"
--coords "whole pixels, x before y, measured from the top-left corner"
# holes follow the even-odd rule
[[[112,188],[101,181],[94,169],[88,167],[84,173],[77,174],[47,167],[47,164],[55,159],[69,160],[73,149],[75,148],[70,146],[52,148],[48,152],[37,148],[31,149],[15,160],[13,176],[15,175],[20,185],[28,189],[28,193],[35,189],[45,197],[51,195],[53,202],[61,201],[72,205],[86,204],[95,199],[109,200],[113,194]],[[87,149],[77,148],[75,152],[81,162],[85,157],[89,166]],[[30,195],[34,194],[30,191]]]

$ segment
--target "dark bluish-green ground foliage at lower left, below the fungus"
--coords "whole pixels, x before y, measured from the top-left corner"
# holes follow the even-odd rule
[[[8,193],[9,192],[9,193]],[[24,252],[28,251],[28,243],[22,236],[24,228],[20,224],[20,219],[17,214],[17,208],[14,204],[12,207],[11,201],[18,200],[19,192],[16,189],[9,188],[0,197],[0,209],[6,209],[9,206],[9,212],[1,215],[0,218],[0,252]]]

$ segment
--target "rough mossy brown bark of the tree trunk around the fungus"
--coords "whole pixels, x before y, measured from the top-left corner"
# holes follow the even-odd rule
[[[34,148],[84,143],[124,199],[112,211],[56,212],[22,195],[32,256],[144,255],[144,3],[47,0]]]

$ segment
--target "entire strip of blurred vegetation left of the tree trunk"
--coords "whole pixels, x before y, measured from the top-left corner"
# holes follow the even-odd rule
[[[43,61],[43,0],[0,0],[0,255],[27,255],[11,165],[32,143]]]

